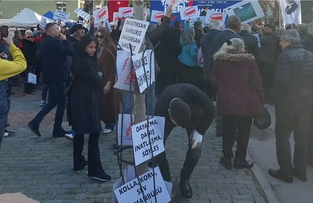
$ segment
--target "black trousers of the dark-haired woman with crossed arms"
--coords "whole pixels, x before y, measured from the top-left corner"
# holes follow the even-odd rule
[[[100,161],[99,152],[99,133],[89,134],[88,142],[88,176],[99,176],[104,173]],[[82,168],[85,164],[85,157],[82,155],[85,137],[82,134],[76,134],[73,144],[74,168]]]

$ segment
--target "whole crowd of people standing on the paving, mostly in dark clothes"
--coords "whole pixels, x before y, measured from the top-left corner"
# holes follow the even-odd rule
[[[239,17],[230,16],[226,29],[217,20],[211,20],[208,27],[203,27],[200,21],[190,27],[189,20],[183,25],[175,21],[170,27],[171,12],[169,7],[158,25],[146,31],[148,49],[160,42],[155,49],[156,82],[146,96],[150,98],[146,99],[146,114],[166,117],[166,123],[171,126],[166,126],[166,136],[175,126],[187,128],[200,120],[201,127],[198,124],[187,130],[194,144],[189,145],[181,174],[183,196],[192,197],[189,177],[200,158],[202,137],[213,117],[216,136],[223,138],[220,163],[229,170],[254,166],[246,160],[250,128],[253,119],[263,114],[264,104],[275,104],[276,151],[280,165],[279,170],[270,169],[269,174],[286,182],[292,182],[293,176],[306,181],[306,165],[313,166],[313,22],[287,24],[283,31],[269,24],[242,24]],[[79,173],[88,166],[89,177],[110,180],[100,162],[100,133],[111,133],[116,114],[120,111],[131,114],[134,105],[134,95],[122,96],[113,88],[114,58],[124,21],[125,18],[121,19],[111,33],[102,23],[94,28],[91,17],[89,31],[80,24],[65,29],[58,22],[47,24],[45,29],[38,26],[35,31],[15,31],[11,33],[13,38],[11,35],[3,38],[4,42],[0,42],[0,133],[6,132],[12,94],[11,88],[7,94],[7,84],[17,83],[13,76],[20,74],[23,96],[31,96],[36,86],[28,83],[27,75],[33,73],[38,82],[40,77],[43,81],[40,101],[43,108],[28,127],[41,137],[40,122],[57,107],[52,137],[74,141],[74,172]],[[259,42],[254,33],[259,35]],[[175,85],[177,83],[182,85]],[[211,108],[213,101],[216,101],[216,115]],[[62,128],[65,109],[72,126],[70,132]],[[106,124],[104,129],[101,121]],[[292,131],[293,163],[289,143]],[[88,161],[82,156],[84,134],[90,135]],[[7,132],[5,137],[8,135],[12,133]],[[163,177],[170,180],[163,155],[158,163]]]

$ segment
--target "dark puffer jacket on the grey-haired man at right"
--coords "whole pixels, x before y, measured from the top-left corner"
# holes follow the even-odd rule
[[[269,103],[297,101],[303,104],[312,102],[312,97],[313,54],[303,45],[289,45],[278,56],[275,85],[269,93]]]

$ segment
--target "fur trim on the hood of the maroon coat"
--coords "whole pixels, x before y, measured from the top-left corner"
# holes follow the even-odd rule
[[[254,56],[252,54],[242,53],[240,51],[218,51],[216,54],[213,55],[213,60],[227,60],[232,62],[242,62],[242,61],[249,61],[253,59]]]

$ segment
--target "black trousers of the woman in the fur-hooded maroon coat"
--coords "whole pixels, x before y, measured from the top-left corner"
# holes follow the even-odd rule
[[[236,159],[245,159],[250,138],[252,118],[239,115],[223,116],[223,154],[225,158],[233,157],[233,144],[237,130]]]

